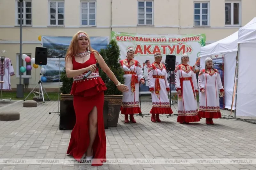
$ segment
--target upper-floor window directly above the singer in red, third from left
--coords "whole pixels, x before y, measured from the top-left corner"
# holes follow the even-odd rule
[[[81,2],[81,25],[96,26],[96,2]]]

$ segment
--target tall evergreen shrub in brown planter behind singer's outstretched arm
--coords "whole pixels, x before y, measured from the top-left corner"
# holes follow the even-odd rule
[[[117,80],[124,84],[124,71],[119,63],[120,49],[117,45],[117,42],[115,40],[111,40],[106,49],[100,50],[100,55],[103,57],[110,70],[113,71]],[[111,81],[107,74],[100,68],[99,73],[108,88],[104,92],[104,100],[108,101],[108,126],[116,127],[123,95],[122,92],[116,88],[114,82]]]

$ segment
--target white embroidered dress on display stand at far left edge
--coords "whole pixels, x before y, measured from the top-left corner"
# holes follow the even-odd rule
[[[11,76],[14,75],[15,74],[11,60],[9,58],[5,58],[3,63],[0,60],[0,81],[4,81],[4,83],[0,83],[0,89],[12,90]]]

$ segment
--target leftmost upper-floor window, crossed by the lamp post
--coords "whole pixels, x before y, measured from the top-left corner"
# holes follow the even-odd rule
[[[20,25],[20,1],[17,2],[16,25]],[[22,2],[22,25],[32,25],[32,2]]]

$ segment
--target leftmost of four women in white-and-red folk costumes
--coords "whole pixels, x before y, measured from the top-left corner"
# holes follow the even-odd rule
[[[144,84],[142,68],[137,60],[134,60],[134,49],[129,47],[127,49],[127,58],[121,60],[121,67],[124,70],[124,85],[129,87],[129,92],[123,94],[123,101],[121,106],[121,114],[124,114],[124,122],[130,121],[136,123],[133,115],[141,113],[139,107],[139,81]]]

